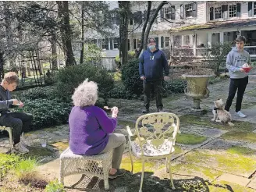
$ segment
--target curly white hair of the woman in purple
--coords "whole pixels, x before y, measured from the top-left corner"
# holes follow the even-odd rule
[[[98,85],[94,81],[84,80],[82,84],[76,87],[72,99],[75,106],[94,105],[98,99]]]

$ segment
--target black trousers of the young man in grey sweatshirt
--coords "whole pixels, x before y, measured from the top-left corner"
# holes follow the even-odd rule
[[[237,90],[237,98],[236,98],[236,112],[241,110],[241,105],[243,101],[244,91],[248,84],[248,76],[242,79],[230,79],[229,85],[229,97],[226,100],[226,111],[229,111],[230,106],[232,105],[233,98],[236,95]]]

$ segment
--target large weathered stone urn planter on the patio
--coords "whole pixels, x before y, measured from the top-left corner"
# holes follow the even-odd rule
[[[194,109],[201,109],[201,99],[209,97],[210,91],[208,90],[207,85],[211,76],[213,75],[183,75],[183,78],[187,80],[187,87],[184,92],[187,97],[193,98]]]

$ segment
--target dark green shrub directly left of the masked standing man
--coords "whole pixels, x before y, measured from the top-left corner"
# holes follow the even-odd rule
[[[140,96],[143,92],[143,82],[139,74],[140,59],[132,59],[122,67],[123,85],[131,95]]]

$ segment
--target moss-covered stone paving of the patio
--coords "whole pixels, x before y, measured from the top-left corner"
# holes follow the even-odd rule
[[[184,94],[164,98],[165,112],[174,112],[181,119],[181,135],[177,139],[176,152],[172,157],[172,172],[176,191],[255,191],[256,190],[256,73],[251,73],[244,95],[243,112],[247,118],[234,116],[234,103],[230,112],[234,127],[212,123],[213,101],[222,98],[226,101],[229,80],[211,84],[210,97],[201,102],[204,114],[191,115],[192,100]],[[235,98],[236,99],[236,98]],[[109,106],[119,107],[117,133],[126,134],[126,125],[133,128],[137,117],[141,116],[142,101],[111,99]],[[155,101],[151,101],[151,112],[155,112]],[[254,124],[255,123],[255,124]],[[126,134],[127,135],[127,134]],[[182,136],[182,137],[181,137]],[[54,179],[59,177],[59,155],[68,147],[69,127],[55,126],[44,130],[25,133],[25,143],[30,146],[30,155],[39,157],[42,175]],[[41,147],[41,138],[47,138],[47,147]],[[184,142],[184,138],[195,138]],[[197,138],[201,138],[199,142]],[[186,140],[185,140],[186,141]],[[196,142],[198,141],[198,142]],[[0,136],[0,152],[9,151],[8,137]],[[37,152],[37,153],[36,153]],[[125,176],[110,180],[113,192],[138,191],[140,187],[140,165],[138,161],[133,174],[130,172],[130,158],[123,155],[122,168]],[[165,161],[146,163],[143,191],[172,191],[169,187],[169,174],[165,172]],[[87,178],[80,183],[81,176],[66,178],[68,191],[105,191],[102,180]],[[75,185],[76,184],[76,185]]]

